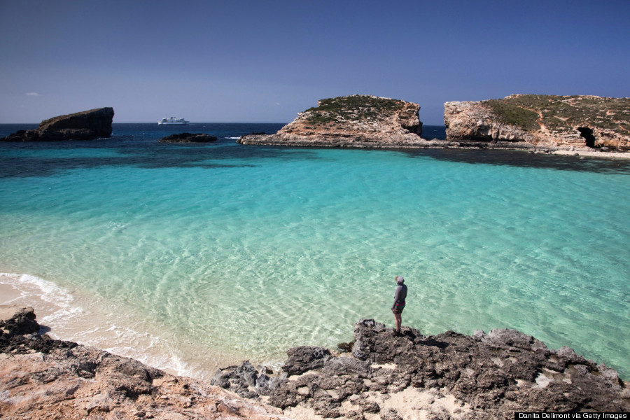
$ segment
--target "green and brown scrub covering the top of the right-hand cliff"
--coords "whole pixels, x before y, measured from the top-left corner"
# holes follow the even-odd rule
[[[482,104],[502,123],[530,132],[542,124],[551,132],[575,132],[583,126],[630,135],[630,98],[515,94]]]

